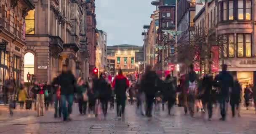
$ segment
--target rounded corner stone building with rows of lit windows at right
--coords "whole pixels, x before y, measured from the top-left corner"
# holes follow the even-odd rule
[[[223,36],[226,43],[219,49],[219,71],[227,64],[243,87],[256,82],[255,8],[255,0],[214,0],[208,3],[207,21],[203,21],[204,7],[194,19],[196,33],[205,31],[207,22],[209,34]]]

